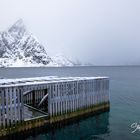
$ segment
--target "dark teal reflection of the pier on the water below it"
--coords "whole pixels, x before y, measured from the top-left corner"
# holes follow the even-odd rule
[[[40,128],[28,134],[16,134],[3,140],[102,140],[109,135],[109,112],[90,116],[53,129]]]

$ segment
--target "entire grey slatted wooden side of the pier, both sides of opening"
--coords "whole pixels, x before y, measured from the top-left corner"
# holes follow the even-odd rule
[[[47,90],[46,90],[47,89]],[[23,94],[33,91],[25,101]],[[109,101],[109,79],[75,80],[0,88],[0,127],[24,120],[24,102],[38,104],[48,93],[48,113],[57,116]],[[34,94],[34,97],[33,97]]]

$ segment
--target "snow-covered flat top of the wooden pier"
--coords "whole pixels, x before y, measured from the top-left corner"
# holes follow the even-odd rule
[[[57,77],[57,76],[46,76],[46,77],[20,78],[20,79],[0,79],[0,87],[49,84],[49,83],[91,80],[91,79],[106,79],[106,78],[108,78],[108,77]]]

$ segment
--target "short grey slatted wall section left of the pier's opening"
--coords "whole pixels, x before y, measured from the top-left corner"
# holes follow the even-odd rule
[[[23,94],[20,87],[0,88],[0,127],[7,128],[23,118]]]

